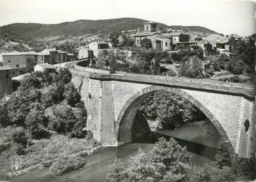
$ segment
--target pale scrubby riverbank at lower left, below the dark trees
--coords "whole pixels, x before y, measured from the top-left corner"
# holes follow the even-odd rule
[[[12,172],[12,159],[21,161],[22,169],[17,171],[17,175],[30,175],[34,170],[44,170],[51,176],[59,176],[72,170],[77,170],[86,165],[86,156],[96,154],[102,149],[94,138],[83,139],[69,138],[64,135],[55,135],[50,139],[32,140],[28,147],[28,152],[23,155],[14,155],[12,146],[1,152],[1,178],[3,180],[15,176]],[[8,157],[9,156],[9,157]],[[37,173],[37,172],[36,172]],[[2,176],[3,175],[3,176]],[[18,177],[19,178],[19,177]]]

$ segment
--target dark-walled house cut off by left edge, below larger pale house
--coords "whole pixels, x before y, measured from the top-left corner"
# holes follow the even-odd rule
[[[12,92],[12,68],[0,66],[0,98]]]

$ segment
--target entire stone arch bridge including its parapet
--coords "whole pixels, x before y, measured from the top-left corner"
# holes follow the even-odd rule
[[[147,76],[65,64],[88,111],[87,128],[104,146],[131,141],[132,122],[148,94],[165,90],[192,102],[213,123],[230,153],[255,154],[255,88],[250,84]],[[249,121],[246,130],[245,122]]]

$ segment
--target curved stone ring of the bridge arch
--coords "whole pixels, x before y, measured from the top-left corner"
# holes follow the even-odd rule
[[[126,101],[124,106],[121,108],[121,111],[119,112],[119,115],[117,117],[117,142],[118,145],[126,144],[132,140],[132,124],[135,119],[135,115],[137,113],[137,110],[139,109],[139,106],[148,98],[148,95],[155,91],[168,91],[170,93],[175,93],[181,98],[184,98],[197,106],[197,108],[208,117],[210,122],[215,126],[217,131],[219,132],[219,135],[224,140],[226,147],[228,149],[228,152],[230,155],[233,155],[235,153],[235,150],[230,143],[230,139],[228,138],[228,135],[226,135],[226,132],[224,128],[221,126],[220,122],[216,119],[215,115],[213,115],[212,112],[210,112],[209,109],[204,106],[204,104],[201,104],[196,98],[193,97],[193,95],[190,95],[189,93],[186,93],[186,91],[182,89],[177,89],[173,87],[162,87],[162,86],[150,86],[146,87],[144,89],[141,89],[140,91],[137,91],[136,93],[132,94],[130,98]]]

